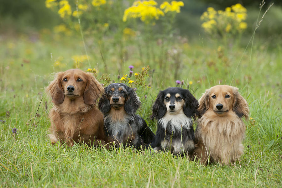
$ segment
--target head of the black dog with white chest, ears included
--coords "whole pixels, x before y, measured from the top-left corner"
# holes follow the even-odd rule
[[[151,118],[160,119],[166,112],[171,115],[183,111],[187,117],[199,116],[197,110],[199,103],[197,99],[187,89],[180,87],[170,87],[164,91],[159,91],[156,101],[153,104]]]

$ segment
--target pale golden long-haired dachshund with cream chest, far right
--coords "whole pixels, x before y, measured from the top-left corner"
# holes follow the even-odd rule
[[[213,86],[199,100],[201,118],[195,131],[195,156],[201,163],[234,163],[243,154],[248,103],[238,88],[227,85]],[[208,160],[209,159],[209,160]]]

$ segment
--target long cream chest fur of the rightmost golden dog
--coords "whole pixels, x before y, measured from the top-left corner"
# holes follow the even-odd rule
[[[196,137],[201,138],[209,156],[229,163],[243,154],[241,143],[244,139],[245,125],[235,112],[230,112],[226,117],[218,117],[212,113],[204,114],[198,120]]]

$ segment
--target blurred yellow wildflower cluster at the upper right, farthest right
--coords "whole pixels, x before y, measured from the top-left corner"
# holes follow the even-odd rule
[[[225,8],[225,11],[209,7],[201,15],[201,20],[205,21],[202,27],[212,35],[226,34],[236,35],[242,33],[247,28],[247,23],[243,22],[247,18],[247,9],[237,3]]]

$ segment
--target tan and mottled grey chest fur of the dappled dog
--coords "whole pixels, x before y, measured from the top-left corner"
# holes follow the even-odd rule
[[[130,140],[136,133],[134,117],[121,110],[111,110],[104,118],[106,133],[120,144]],[[130,138],[129,138],[130,137]]]

